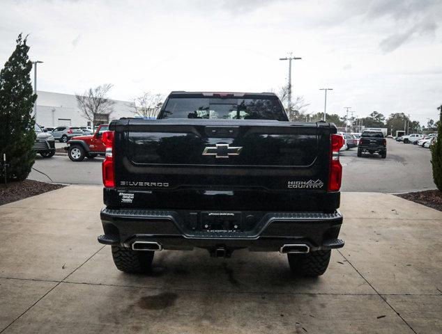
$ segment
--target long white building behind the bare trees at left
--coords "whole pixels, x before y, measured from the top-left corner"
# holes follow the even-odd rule
[[[71,125],[82,127],[91,125],[91,122],[80,113],[75,95],[37,90],[37,116],[36,122],[43,127],[60,127]],[[121,117],[133,117],[130,102],[113,100],[114,111],[110,115],[102,115],[101,123]]]

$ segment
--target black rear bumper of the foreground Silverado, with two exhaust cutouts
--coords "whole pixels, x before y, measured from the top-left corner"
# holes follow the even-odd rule
[[[337,239],[342,214],[301,212],[242,212],[241,230],[201,229],[201,212],[192,210],[102,209],[105,234],[101,244],[132,248],[135,241],[153,241],[162,249],[248,248],[280,251],[287,244],[305,244],[310,250],[341,248]],[[250,217],[256,217],[255,219]]]

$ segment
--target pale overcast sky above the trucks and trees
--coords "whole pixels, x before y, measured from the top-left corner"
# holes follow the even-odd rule
[[[442,1],[0,0],[0,63],[29,33],[38,90],[110,97],[144,91],[277,90],[287,83],[308,112],[409,113],[422,124],[442,104]]]

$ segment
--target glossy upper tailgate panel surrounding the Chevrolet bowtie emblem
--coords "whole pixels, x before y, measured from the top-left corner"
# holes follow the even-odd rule
[[[228,159],[202,155],[204,148],[215,143],[228,143],[243,150]],[[193,133],[130,132],[128,144],[128,156],[135,164],[309,166],[317,157],[317,135],[314,134],[210,138]]]

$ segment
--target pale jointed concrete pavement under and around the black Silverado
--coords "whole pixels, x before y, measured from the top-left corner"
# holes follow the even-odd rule
[[[343,193],[342,237],[318,279],[287,257],[163,251],[153,273],[114,268],[100,186],[0,207],[1,333],[442,333],[442,213]]]

